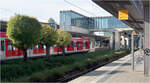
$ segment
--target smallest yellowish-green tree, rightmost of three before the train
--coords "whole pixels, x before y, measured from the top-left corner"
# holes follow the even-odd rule
[[[72,35],[69,32],[62,29],[58,29],[57,33],[58,33],[57,46],[62,48],[63,55],[65,55],[65,47],[71,43]]]

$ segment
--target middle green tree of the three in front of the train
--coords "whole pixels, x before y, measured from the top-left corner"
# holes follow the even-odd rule
[[[46,46],[46,56],[50,55],[50,47],[56,44],[58,39],[57,31],[51,28],[49,25],[42,25],[41,44]]]

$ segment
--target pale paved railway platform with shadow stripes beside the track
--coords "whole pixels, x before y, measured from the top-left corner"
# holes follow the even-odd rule
[[[150,83],[150,77],[144,76],[143,71],[131,69],[131,54],[129,54],[69,83]]]

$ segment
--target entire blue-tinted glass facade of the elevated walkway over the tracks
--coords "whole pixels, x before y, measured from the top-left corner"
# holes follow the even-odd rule
[[[115,17],[87,17],[74,11],[60,12],[60,28],[69,30],[71,26],[85,29],[127,28]]]

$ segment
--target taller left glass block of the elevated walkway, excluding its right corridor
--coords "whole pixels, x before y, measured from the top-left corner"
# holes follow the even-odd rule
[[[77,26],[88,29],[92,27],[94,20],[74,11],[61,11],[60,12],[60,28],[69,30],[71,26]]]

